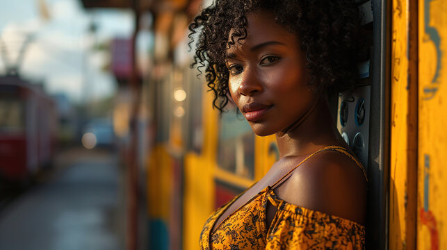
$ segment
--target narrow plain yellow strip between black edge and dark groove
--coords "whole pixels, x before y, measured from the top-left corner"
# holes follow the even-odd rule
[[[393,0],[389,249],[414,249],[416,227],[417,22],[415,1]]]

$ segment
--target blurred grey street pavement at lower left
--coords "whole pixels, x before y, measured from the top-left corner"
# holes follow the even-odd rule
[[[124,249],[124,174],[116,153],[74,148],[0,210],[0,249]]]

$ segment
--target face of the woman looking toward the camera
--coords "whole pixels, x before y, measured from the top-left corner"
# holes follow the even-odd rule
[[[247,38],[227,50],[229,90],[257,135],[284,131],[313,106],[298,36],[268,11],[247,15]]]

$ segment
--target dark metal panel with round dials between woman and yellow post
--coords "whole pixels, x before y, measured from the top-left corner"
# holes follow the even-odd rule
[[[360,81],[339,93],[336,125],[368,173],[366,249],[388,249],[390,1],[357,0],[367,53]],[[363,35],[363,34],[362,34]]]

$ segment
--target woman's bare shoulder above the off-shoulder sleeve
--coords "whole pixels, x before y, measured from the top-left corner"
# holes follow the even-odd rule
[[[366,179],[343,153],[324,151],[309,158],[275,192],[288,203],[364,224]]]

